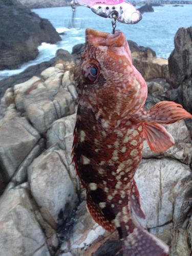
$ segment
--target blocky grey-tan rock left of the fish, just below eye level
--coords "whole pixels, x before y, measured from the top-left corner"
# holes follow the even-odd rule
[[[57,78],[55,78],[57,80]],[[58,82],[54,79],[54,82]],[[24,109],[33,126],[42,134],[58,118],[75,113],[76,103],[68,88],[41,88],[24,98]]]

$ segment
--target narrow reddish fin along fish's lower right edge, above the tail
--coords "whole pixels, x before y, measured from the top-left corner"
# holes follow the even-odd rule
[[[132,183],[130,202],[131,202],[131,207],[133,208],[135,214],[138,217],[145,219],[145,214],[141,206],[141,198],[140,198],[139,190],[137,188],[137,184],[135,180],[133,180],[133,183]]]

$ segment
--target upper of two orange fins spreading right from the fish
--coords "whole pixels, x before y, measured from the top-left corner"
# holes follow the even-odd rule
[[[173,101],[160,101],[151,110],[138,112],[131,117],[135,122],[161,124],[171,124],[185,118],[192,119],[192,115]]]

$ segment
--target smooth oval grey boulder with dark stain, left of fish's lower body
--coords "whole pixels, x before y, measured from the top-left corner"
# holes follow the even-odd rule
[[[43,218],[58,225],[71,215],[77,195],[68,167],[63,163],[59,147],[51,147],[28,167],[31,193]]]

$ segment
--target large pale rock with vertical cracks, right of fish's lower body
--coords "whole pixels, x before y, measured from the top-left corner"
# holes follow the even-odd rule
[[[139,222],[145,228],[163,228],[170,223],[169,230],[179,230],[190,207],[190,176],[189,167],[177,161],[142,160],[135,178],[146,215],[146,219]]]

